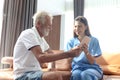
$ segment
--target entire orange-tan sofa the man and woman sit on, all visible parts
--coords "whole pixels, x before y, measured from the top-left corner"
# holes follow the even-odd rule
[[[54,50],[55,53],[62,50]],[[120,80],[120,53],[103,53],[102,56],[96,59],[104,72],[103,80]],[[2,64],[9,64],[9,68],[0,69],[0,80],[13,80],[13,57],[3,57]],[[64,80],[69,80],[70,69],[66,63],[66,59],[57,60],[55,62],[56,70],[63,71]],[[43,71],[47,71],[47,65],[43,66]]]

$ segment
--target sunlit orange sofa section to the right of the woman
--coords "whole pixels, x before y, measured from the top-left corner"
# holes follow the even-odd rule
[[[120,53],[106,52],[96,61],[103,70],[103,80],[120,80]]]

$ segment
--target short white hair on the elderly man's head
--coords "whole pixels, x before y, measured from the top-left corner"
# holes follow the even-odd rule
[[[36,22],[40,21],[42,24],[46,22],[46,16],[53,18],[52,15],[46,11],[40,11],[34,14],[33,18],[33,25],[36,25]]]

